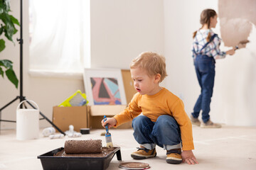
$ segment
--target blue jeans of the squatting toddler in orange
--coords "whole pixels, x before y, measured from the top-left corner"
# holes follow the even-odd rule
[[[156,122],[139,115],[132,120],[132,128],[135,140],[146,149],[154,149],[156,145],[166,150],[181,148],[181,132],[171,115],[161,115]]]

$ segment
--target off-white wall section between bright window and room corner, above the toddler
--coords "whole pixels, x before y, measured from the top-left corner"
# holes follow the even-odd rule
[[[163,54],[163,8],[159,0],[91,1],[91,66],[129,69],[143,51]]]

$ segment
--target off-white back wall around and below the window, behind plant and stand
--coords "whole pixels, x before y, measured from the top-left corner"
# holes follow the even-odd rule
[[[140,52],[151,50],[164,53],[164,6],[163,1],[151,0],[93,0],[91,1],[91,67],[129,69],[132,58]],[[19,1],[11,1],[16,18]],[[15,35],[14,40],[19,38]],[[28,74],[28,0],[23,1],[23,96],[38,103],[42,113],[52,119],[53,106],[58,105],[76,90],[85,91],[82,76],[31,77]],[[14,62],[19,77],[19,45],[7,42],[1,59]],[[18,78],[19,79],[19,78]],[[7,79],[0,78],[0,107],[19,95]],[[19,101],[2,111],[1,119],[16,120]],[[15,128],[16,123],[0,122],[1,128]],[[50,126],[46,120],[41,127]]]

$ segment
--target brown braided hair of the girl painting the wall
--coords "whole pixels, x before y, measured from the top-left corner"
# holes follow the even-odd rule
[[[202,24],[202,27],[204,24],[207,24],[208,29],[210,28],[210,18],[213,18],[217,13],[210,8],[207,8],[202,11],[201,17],[200,17],[200,23]],[[193,33],[193,38],[196,37],[197,30]],[[208,33],[208,36],[206,38],[207,42],[210,40],[210,32]]]

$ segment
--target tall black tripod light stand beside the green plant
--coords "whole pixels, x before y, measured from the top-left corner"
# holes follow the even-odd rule
[[[22,30],[22,28],[23,28],[23,22],[22,22],[23,10],[22,9],[23,9],[23,2],[21,0],[21,9],[20,9],[21,10],[21,21],[20,21],[21,38],[20,39],[17,38],[17,41],[20,44],[20,84],[19,84],[20,85],[20,95],[16,96],[16,98],[14,98],[14,100],[10,101],[5,106],[0,108],[0,123],[1,123],[1,121],[3,121],[3,122],[10,122],[10,123],[16,123],[16,121],[14,121],[14,120],[1,120],[1,111],[3,111],[4,108],[6,108],[7,106],[11,105],[11,103],[14,103],[14,101],[18,100],[18,98],[20,99],[20,102],[26,100],[26,97],[23,96],[23,34],[22,34],[22,32],[23,32],[23,30]],[[29,101],[26,101],[26,103],[28,103],[32,108],[35,108],[35,106],[33,106]],[[26,108],[25,103],[23,103],[23,105]],[[20,107],[22,108],[23,105],[21,104]],[[54,128],[56,128],[59,132],[61,132],[63,135],[65,135],[65,133],[62,130],[60,130],[60,128],[58,128],[52,121],[50,121],[46,117],[46,115],[43,115],[43,113],[41,113],[41,111],[39,111],[39,113],[40,113],[41,116],[43,116],[43,118],[41,118],[40,120],[46,119],[48,121],[48,123],[53,125]],[[1,124],[0,124],[0,130],[1,130]]]

